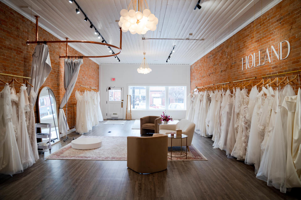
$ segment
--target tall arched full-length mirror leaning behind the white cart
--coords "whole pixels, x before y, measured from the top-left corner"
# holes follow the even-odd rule
[[[53,91],[49,87],[42,88],[38,101],[40,123],[51,123],[51,141],[58,142],[60,140],[58,112]],[[49,133],[49,128],[41,128],[41,133]],[[43,142],[44,140],[47,142],[48,139],[43,139]]]

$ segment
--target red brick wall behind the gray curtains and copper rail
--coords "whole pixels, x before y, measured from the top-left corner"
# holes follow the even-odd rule
[[[33,17],[34,18],[34,17]],[[0,2],[0,73],[8,73],[19,76],[30,76],[30,65],[32,53],[36,44],[26,45],[26,40],[35,40],[35,23],[30,22],[12,8]],[[74,38],[81,39],[81,38]],[[39,40],[59,40],[49,32],[39,27]],[[41,88],[50,87],[56,97],[57,107],[59,107],[62,97],[64,96],[64,59],[59,55],[65,55],[66,43],[48,44],[51,60],[51,73]],[[68,47],[68,55],[82,55],[72,47]],[[91,86],[99,89],[99,67],[98,64],[89,58],[83,59],[78,74],[75,88],[68,100],[68,125],[75,126],[76,116],[76,98],[75,91],[79,85]],[[12,77],[0,75],[5,82],[10,82]],[[19,82],[24,83],[25,79],[16,78]],[[3,83],[0,83],[0,90],[3,89]],[[18,92],[18,85],[15,85]],[[40,88],[40,89],[41,89]],[[38,102],[38,101],[37,101]],[[37,105],[34,105],[36,122],[38,122]],[[64,107],[66,113],[66,106]]]

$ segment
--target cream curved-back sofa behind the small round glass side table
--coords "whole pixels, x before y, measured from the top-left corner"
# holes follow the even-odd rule
[[[159,133],[160,134],[170,134],[170,132],[176,132],[177,129],[182,130],[182,134],[188,136],[187,138],[187,147],[191,145],[193,133],[194,133],[195,124],[187,119],[180,120],[177,124],[160,124]],[[185,146],[186,138],[182,139],[182,145]],[[171,139],[168,138],[168,147],[171,146]],[[181,139],[173,139],[172,146],[178,147],[181,146]],[[188,148],[189,150],[189,148]]]

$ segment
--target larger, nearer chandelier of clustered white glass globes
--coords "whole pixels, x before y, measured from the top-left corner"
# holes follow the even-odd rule
[[[131,0],[128,9],[122,9],[120,15],[118,25],[123,32],[145,34],[148,30],[155,31],[157,28],[158,18],[150,12],[146,0]]]

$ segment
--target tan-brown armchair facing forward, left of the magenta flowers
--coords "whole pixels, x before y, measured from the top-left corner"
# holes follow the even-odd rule
[[[140,135],[145,133],[159,133],[158,124],[161,123],[161,117],[145,116],[140,118]]]

